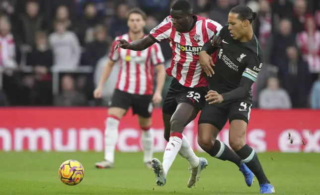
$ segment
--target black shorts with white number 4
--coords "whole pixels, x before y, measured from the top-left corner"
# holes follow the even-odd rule
[[[229,123],[233,120],[243,120],[248,123],[252,106],[251,102],[251,99],[248,98],[218,104],[206,102],[202,108],[198,124],[212,124],[221,131],[228,119]]]

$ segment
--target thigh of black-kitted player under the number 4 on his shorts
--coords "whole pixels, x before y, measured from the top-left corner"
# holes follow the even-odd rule
[[[240,149],[245,144],[245,133],[250,119],[251,100],[234,101],[229,107],[229,143],[233,149]]]

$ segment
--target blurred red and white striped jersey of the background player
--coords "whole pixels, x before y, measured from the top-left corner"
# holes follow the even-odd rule
[[[145,35],[146,36],[146,35]],[[115,38],[125,39],[131,42],[129,34]],[[164,57],[158,43],[143,51],[133,51],[118,48],[114,51],[118,42],[114,41],[109,58],[120,63],[120,71],[116,89],[137,95],[152,95],[154,93],[154,69],[158,64],[164,63]]]

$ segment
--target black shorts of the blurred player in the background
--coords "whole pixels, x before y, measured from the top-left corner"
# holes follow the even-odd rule
[[[149,118],[152,114],[152,95],[137,95],[115,90],[109,103],[110,107],[128,110],[132,107],[133,114]]]

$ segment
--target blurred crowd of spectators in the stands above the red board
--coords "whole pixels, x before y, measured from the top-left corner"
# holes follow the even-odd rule
[[[94,100],[92,92],[112,40],[128,31],[127,11],[138,6],[147,13],[148,33],[173,1],[0,0],[0,106],[106,105],[117,70],[104,100]],[[320,108],[320,0],[190,2],[195,14],[222,25],[237,4],[258,12],[253,28],[265,59],[252,87],[254,107]],[[168,42],[160,45],[169,66]]]

